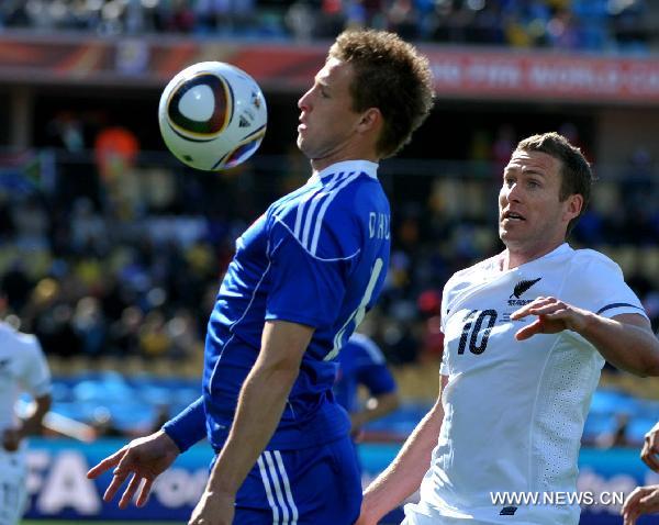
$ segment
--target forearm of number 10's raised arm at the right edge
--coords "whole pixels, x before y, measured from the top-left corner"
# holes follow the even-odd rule
[[[659,376],[659,340],[649,327],[589,314],[579,334],[615,367],[641,377]]]

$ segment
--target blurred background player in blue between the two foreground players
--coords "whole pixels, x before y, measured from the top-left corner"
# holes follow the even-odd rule
[[[368,392],[365,402],[359,400],[359,387]],[[338,353],[334,395],[350,415],[350,436],[354,442],[360,440],[364,425],[398,409],[400,398],[395,379],[382,350],[370,337],[353,334]]]

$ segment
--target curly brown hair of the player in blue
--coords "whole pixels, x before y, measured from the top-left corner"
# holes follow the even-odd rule
[[[384,125],[376,147],[382,157],[394,155],[433,107],[428,59],[398,35],[373,30],[343,32],[328,57],[353,65],[353,110],[380,110]]]

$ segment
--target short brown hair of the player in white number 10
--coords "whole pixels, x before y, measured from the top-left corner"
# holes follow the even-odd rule
[[[585,159],[581,149],[572,146],[565,136],[556,132],[524,138],[517,144],[516,149],[522,152],[541,152],[560,161],[561,181],[558,197],[561,201],[574,194],[583,197],[583,205],[579,215],[568,223],[567,234],[569,235],[590,202],[591,187],[594,180],[590,163]]]

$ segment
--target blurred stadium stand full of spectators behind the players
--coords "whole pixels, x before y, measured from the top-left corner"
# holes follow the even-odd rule
[[[86,77],[86,59],[126,36],[154,47],[171,42],[181,55],[186,46],[220,53],[255,42],[299,52],[357,25],[395,30],[449,58],[465,49],[485,59],[498,53],[501,62],[640,57],[634,67],[654,68],[646,87],[659,85],[659,3],[648,0],[0,2],[0,102],[12,109],[0,114],[0,286],[8,298],[0,314],[40,337],[56,375],[56,413],[98,435],[135,436],[194,399],[205,322],[234,239],[266,203],[306,177],[292,137],[273,126],[246,166],[217,177],[183,168],[157,136],[153,100],[163,77],[149,77],[148,66],[120,80],[107,70]],[[31,83],[38,67],[14,67],[8,49],[16,42],[79,45],[81,65],[66,69],[75,62],[67,60],[63,76]],[[437,66],[438,75],[451,71]],[[530,132],[571,134],[594,163],[596,196],[573,242],[622,266],[659,329],[657,93],[593,101],[588,93],[540,92],[520,101],[516,91],[481,90],[479,82],[463,98],[444,91],[420,138],[382,166],[393,250],[366,328],[394,366],[406,401],[367,427],[376,440],[403,439],[435,395],[442,287],[456,269],[500,249],[491,219],[501,161]],[[270,122],[281,129],[295,122],[294,111],[282,108],[294,110],[298,88],[266,88]],[[16,109],[30,93],[32,109]],[[12,122],[21,114],[30,125]],[[133,145],[104,156],[98,138],[112,129]],[[659,420],[657,400],[656,381],[607,367],[584,444],[637,446]]]

